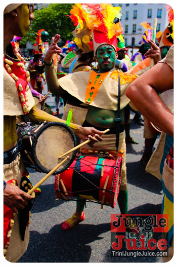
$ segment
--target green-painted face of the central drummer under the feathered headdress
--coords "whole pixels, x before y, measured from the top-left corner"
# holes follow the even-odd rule
[[[104,71],[111,70],[115,65],[115,51],[109,45],[101,45],[97,50],[97,60],[100,69]]]

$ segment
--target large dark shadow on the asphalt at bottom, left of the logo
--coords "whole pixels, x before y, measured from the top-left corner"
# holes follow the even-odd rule
[[[19,262],[89,262],[92,248],[88,244],[103,239],[99,235],[108,231],[110,223],[78,224],[67,232],[57,224],[41,235],[32,231],[28,249]]]

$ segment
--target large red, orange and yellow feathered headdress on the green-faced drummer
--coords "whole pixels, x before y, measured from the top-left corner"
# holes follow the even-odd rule
[[[82,45],[83,49],[84,43],[96,52],[101,44],[107,43],[116,50],[116,35],[123,33],[119,21],[121,18],[120,10],[120,7],[113,7],[111,4],[75,4],[71,10],[70,18],[74,25],[77,25],[74,32],[76,44]],[[84,34],[85,32],[86,34]],[[82,36],[80,35],[78,40],[79,34]]]

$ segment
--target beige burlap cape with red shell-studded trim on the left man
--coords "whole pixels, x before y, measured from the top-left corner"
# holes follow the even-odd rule
[[[14,59],[4,54],[4,116],[19,116],[29,112],[34,99],[29,89],[29,72],[17,51]]]

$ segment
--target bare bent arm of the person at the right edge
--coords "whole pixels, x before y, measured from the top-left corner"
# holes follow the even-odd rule
[[[173,115],[158,96],[172,88],[172,69],[166,63],[158,63],[128,86],[126,96],[142,115],[173,137]]]

